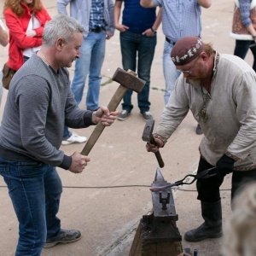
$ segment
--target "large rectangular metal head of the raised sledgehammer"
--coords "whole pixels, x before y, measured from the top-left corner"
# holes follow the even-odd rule
[[[126,72],[121,68],[116,70],[116,72],[113,74],[112,80],[136,92],[141,92],[144,85],[146,84],[143,79],[139,79],[133,74]]]

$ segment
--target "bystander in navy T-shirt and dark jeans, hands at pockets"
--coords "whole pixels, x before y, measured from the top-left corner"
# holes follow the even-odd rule
[[[122,3],[125,3],[123,20],[119,24]],[[161,23],[161,9],[156,16],[156,9],[145,9],[139,0],[116,0],[114,4],[114,26],[119,30],[123,68],[137,70],[137,75],[146,84],[137,95],[137,104],[143,119],[153,119],[149,112],[150,70],[157,43],[156,31]],[[131,113],[132,90],[128,89],[122,103],[118,119],[125,120]]]

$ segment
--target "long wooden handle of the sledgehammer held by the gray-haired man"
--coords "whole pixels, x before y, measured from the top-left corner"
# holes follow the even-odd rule
[[[119,88],[115,91],[112,99],[108,103],[108,109],[109,112],[113,112],[116,110],[116,108],[119,106],[119,103],[121,102],[123,96],[125,96],[127,88],[123,86],[122,84],[119,85]],[[94,131],[92,131],[90,138],[88,139],[87,143],[85,144],[81,154],[88,155],[90,153],[91,148],[95,145],[98,138],[101,136],[102,131],[104,130],[105,126],[102,125],[102,122],[100,121]]]

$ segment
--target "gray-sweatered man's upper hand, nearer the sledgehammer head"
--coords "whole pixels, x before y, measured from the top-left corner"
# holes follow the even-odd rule
[[[97,124],[101,121],[102,125],[110,126],[113,124],[118,114],[118,111],[109,112],[107,107],[102,106],[101,108],[92,113],[92,122]]]

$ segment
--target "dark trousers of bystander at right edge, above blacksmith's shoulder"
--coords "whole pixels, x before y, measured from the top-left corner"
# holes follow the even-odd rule
[[[254,41],[250,40],[236,40],[236,47],[234,55],[244,60],[247,55],[248,49],[251,49],[253,53],[253,70],[256,72],[256,45],[250,47],[251,44],[255,44]]]

